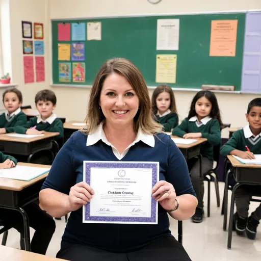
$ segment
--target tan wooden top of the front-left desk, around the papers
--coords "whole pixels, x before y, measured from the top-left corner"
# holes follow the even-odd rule
[[[49,165],[23,163],[23,162],[19,162],[17,165],[39,167],[39,168],[50,168],[51,167]],[[24,188],[27,188],[27,187],[35,184],[39,180],[44,179],[45,177],[47,177],[47,175],[48,175],[48,173],[45,173],[45,174],[43,174],[39,177],[36,177],[36,178],[34,178],[30,181],[23,181],[23,180],[0,177],[0,189],[2,189],[2,190],[12,190],[12,191],[21,191]]]

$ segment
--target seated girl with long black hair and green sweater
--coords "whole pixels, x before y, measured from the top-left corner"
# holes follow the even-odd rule
[[[192,159],[188,162],[192,185],[198,199],[196,212],[192,217],[192,221],[195,223],[200,223],[203,220],[203,173],[213,168],[213,149],[221,142],[221,125],[217,98],[213,92],[204,90],[198,92],[193,98],[188,118],[185,118],[172,132],[173,135],[184,139],[201,137],[207,139],[200,149],[202,176],[200,176],[199,160]]]

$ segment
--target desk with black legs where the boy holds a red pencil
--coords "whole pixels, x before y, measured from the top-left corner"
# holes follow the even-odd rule
[[[232,155],[227,156],[232,165],[232,173],[237,184],[232,189],[231,205],[230,205],[230,217],[228,227],[228,239],[227,248],[231,249],[232,241],[232,225],[234,214],[234,194],[238,187],[242,185],[261,185],[261,165],[256,164],[243,164],[235,159]],[[225,181],[225,193],[224,193],[224,224],[223,229],[226,229],[227,219],[227,194],[228,194],[228,175]]]

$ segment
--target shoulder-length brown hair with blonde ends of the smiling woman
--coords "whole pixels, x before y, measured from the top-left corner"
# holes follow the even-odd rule
[[[140,70],[132,62],[124,58],[114,58],[106,61],[96,74],[85,119],[87,128],[83,132],[85,134],[95,132],[97,126],[105,119],[99,109],[100,92],[105,79],[112,73],[123,76],[139,98],[140,109],[134,117],[134,131],[138,133],[138,130],[141,129],[142,132],[147,134],[162,132],[162,126],[154,121],[148,89]]]

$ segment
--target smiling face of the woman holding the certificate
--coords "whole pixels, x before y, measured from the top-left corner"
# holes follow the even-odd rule
[[[139,98],[123,76],[112,73],[103,83],[99,106],[108,123],[127,126],[134,122]]]

